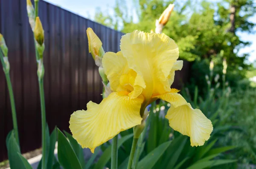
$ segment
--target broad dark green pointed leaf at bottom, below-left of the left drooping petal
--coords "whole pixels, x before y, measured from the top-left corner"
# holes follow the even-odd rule
[[[82,169],[81,164],[67,141],[65,135],[58,129],[58,161],[64,169]]]

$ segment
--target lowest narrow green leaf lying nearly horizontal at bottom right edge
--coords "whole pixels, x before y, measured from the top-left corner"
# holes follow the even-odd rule
[[[202,161],[200,163],[195,163],[192,166],[189,166],[187,169],[204,169],[207,167],[218,166],[227,163],[233,163],[236,160],[212,160],[212,161]]]

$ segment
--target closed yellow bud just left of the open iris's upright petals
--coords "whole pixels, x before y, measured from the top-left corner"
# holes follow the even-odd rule
[[[98,56],[99,58],[102,58],[105,52],[102,48],[101,40],[94,33],[92,28],[87,28],[86,33],[88,37],[89,52],[92,54],[93,59],[95,60],[96,56]]]

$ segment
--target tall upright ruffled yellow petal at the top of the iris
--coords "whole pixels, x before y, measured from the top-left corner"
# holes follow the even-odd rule
[[[144,89],[146,99],[170,89],[167,77],[179,56],[174,40],[165,34],[133,31],[122,36],[120,48],[129,68],[137,73],[134,86]],[[134,87],[134,93],[140,93],[135,90]]]

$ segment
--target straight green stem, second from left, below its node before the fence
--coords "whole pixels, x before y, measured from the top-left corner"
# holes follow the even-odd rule
[[[41,123],[42,123],[42,169],[47,168],[46,157],[46,115],[45,115],[45,101],[44,101],[44,77],[38,79],[41,103]]]

